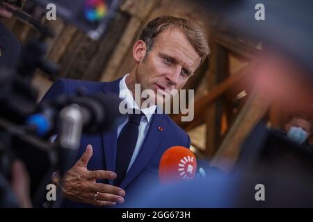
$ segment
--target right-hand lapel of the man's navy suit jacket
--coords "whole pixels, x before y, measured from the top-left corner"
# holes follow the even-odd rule
[[[161,141],[163,133],[159,130],[159,126],[162,126],[163,114],[154,114],[152,117],[150,128],[145,137],[145,141],[141,146],[141,151],[138,153],[134,164],[129,169],[129,172],[122,180],[120,187],[125,189],[129,183],[138,176],[150,161],[152,155],[156,151]]]

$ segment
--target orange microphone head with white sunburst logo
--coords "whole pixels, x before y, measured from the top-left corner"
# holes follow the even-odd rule
[[[191,180],[196,170],[195,155],[184,146],[172,146],[161,157],[159,180],[161,184]]]

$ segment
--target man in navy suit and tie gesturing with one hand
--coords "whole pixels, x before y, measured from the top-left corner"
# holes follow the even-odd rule
[[[128,109],[140,110],[137,123],[129,114],[111,133],[83,135],[77,163],[65,176],[63,207],[111,206],[135,198],[138,189],[149,190],[148,182],[158,182],[159,161],[166,149],[190,146],[184,130],[167,114],[155,112],[155,104],[173,89],[182,89],[209,55],[203,31],[186,19],[158,17],[145,26],[132,52],[136,64],[123,78],[110,83],[59,79],[44,97],[72,94],[83,86],[88,94],[117,94],[126,101]],[[142,100],[134,99],[136,84],[153,92],[149,99],[154,103],[147,108],[139,104]],[[135,140],[125,139],[131,131],[137,133]],[[127,155],[128,146],[133,142],[131,155],[125,161],[123,155]],[[58,185],[58,177],[52,181]]]

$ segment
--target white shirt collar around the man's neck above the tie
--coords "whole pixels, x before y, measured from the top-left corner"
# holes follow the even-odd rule
[[[127,76],[129,76],[129,74],[125,75],[122,80],[120,80],[120,94],[119,94],[119,97],[120,99],[125,99],[126,102],[127,102],[127,108],[130,108],[130,109],[138,109],[138,105],[136,103],[136,101],[134,100],[134,97],[131,95],[131,91],[128,89],[127,85],[126,85],[126,78]],[[121,94],[121,91],[122,90],[126,90],[126,94],[122,95]],[[125,97],[124,97],[125,96]],[[141,109],[141,112],[143,112],[143,114],[145,114],[145,117],[147,117],[147,121],[148,123],[151,122],[151,119],[152,119],[152,114],[154,114],[155,110],[157,109],[157,105],[150,105],[150,107],[148,108],[144,108],[144,109]]]

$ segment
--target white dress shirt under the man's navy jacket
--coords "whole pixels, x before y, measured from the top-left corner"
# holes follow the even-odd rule
[[[124,76],[124,78],[122,78],[122,80],[120,80],[120,94],[119,97],[122,100],[126,100],[127,103],[127,108],[129,109],[138,109],[138,105],[136,103],[136,101],[134,100],[134,97],[131,95],[130,90],[128,89],[127,85],[126,85],[126,78],[127,76],[129,76],[129,74],[127,74],[126,76]],[[121,94],[122,90],[127,89],[127,93],[125,94]],[[150,127],[150,123],[152,121],[152,114],[155,112],[155,110],[157,109],[157,105],[150,105],[150,107],[145,108],[145,109],[141,109],[141,112],[143,112],[143,117],[141,118],[141,123],[138,126],[138,139],[137,139],[137,143],[135,146],[135,150],[133,155],[131,156],[131,160],[129,162],[129,166],[127,168],[127,172],[129,171],[129,169],[131,168],[131,166],[134,164],[136,157],[139,153],[139,151],[141,151],[141,146],[143,145],[143,142],[145,141],[145,136],[147,135],[147,131],[149,130]],[[120,125],[118,126],[118,136],[120,135],[120,132],[122,131],[122,128],[125,126],[125,124],[128,122],[128,117],[127,119],[125,119],[125,121],[123,121],[122,123],[120,123]]]

